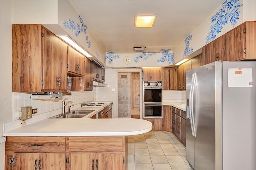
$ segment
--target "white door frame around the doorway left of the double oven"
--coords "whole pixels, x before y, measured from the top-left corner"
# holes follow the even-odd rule
[[[139,72],[140,73],[140,94],[142,94],[142,68],[116,70],[116,118],[118,118],[118,73],[119,72]],[[140,95],[140,119],[142,119],[142,95]]]

